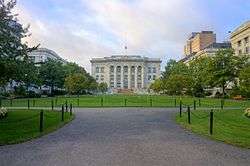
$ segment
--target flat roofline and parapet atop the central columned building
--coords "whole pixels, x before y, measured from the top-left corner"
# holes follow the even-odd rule
[[[148,58],[142,57],[140,55],[112,55],[110,57],[104,58],[92,58],[90,60],[93,62],[112,62],[112,61],[135,61],[135,62],[158,62],[161,63],[161,59],[159,58]]]

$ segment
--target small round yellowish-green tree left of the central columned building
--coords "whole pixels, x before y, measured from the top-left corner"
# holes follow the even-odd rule
[[[65,88],[70,94],[81,94],[87,89],[87,78],[83,73],[75,73],[65,78]]]

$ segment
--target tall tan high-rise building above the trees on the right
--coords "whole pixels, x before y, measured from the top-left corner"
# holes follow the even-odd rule
[[[215,42],[216,34],[213,31],[193,32],[184,46],[184,55],[196,54]]]

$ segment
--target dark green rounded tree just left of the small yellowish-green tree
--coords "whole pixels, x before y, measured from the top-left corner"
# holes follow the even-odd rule
[[[52,95],[55,87],[63,88],[65,71],[61,62],[49,59],[40,66],[39,75],[42,83],[51,87]]]

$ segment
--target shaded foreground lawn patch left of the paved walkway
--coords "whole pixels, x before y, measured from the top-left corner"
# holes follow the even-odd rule
[[[24,142],[52,132],[73,119],[65,112],[64,122],[61,113],[44,111],[44,130],[39,132],[38,110],[11,110],[8,116],[0,120],[0,145]]]

